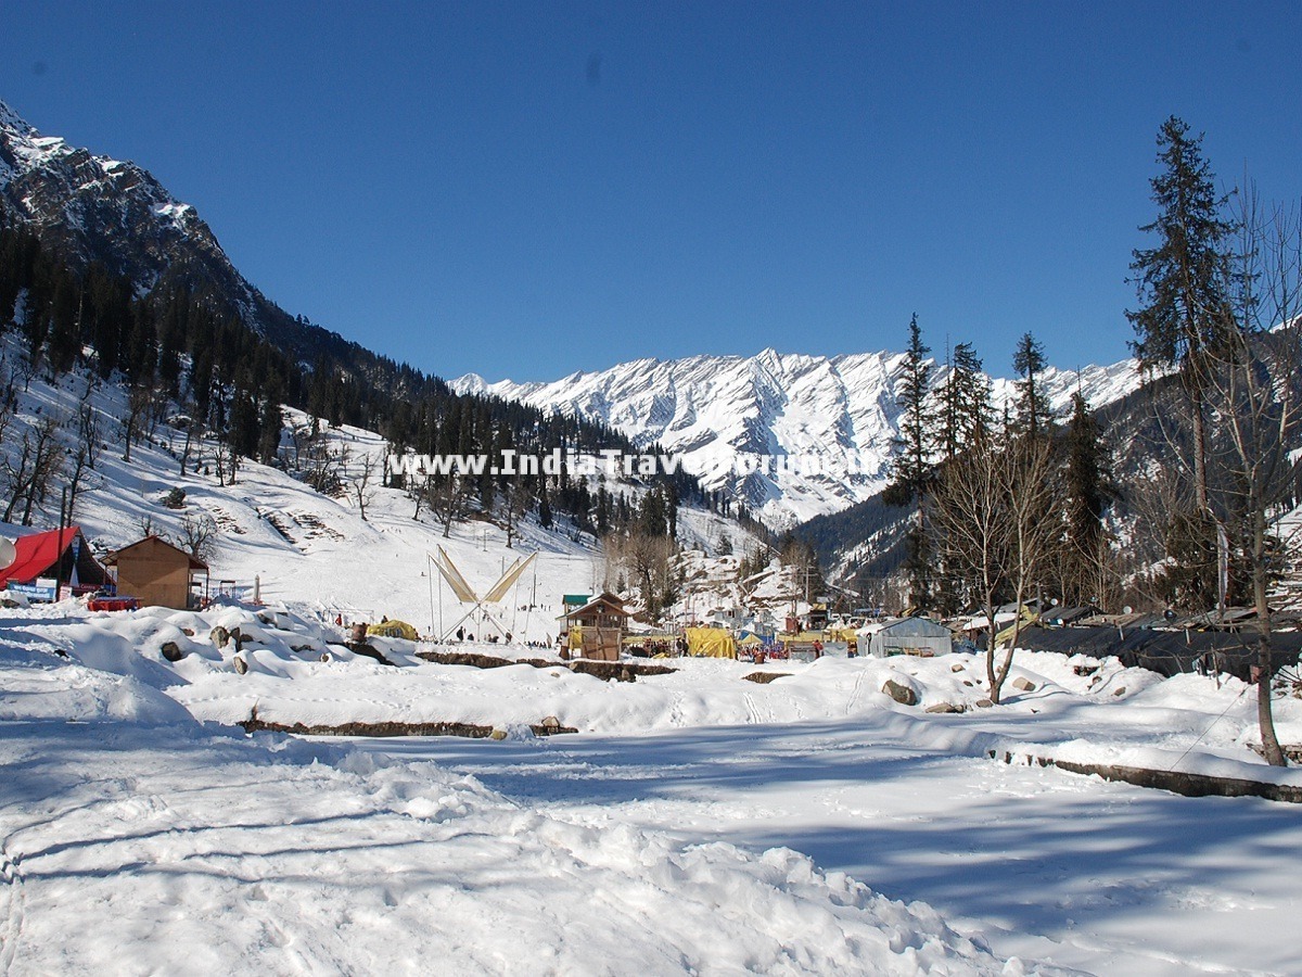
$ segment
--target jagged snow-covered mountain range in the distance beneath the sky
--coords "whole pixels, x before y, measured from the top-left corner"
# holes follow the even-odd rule
[[[771,525],[786,526],[871,498],[887,483],[898,434],[902,353],[822,357],[779,353],[637,360],[551,383],[453,380],[460,392],[523,400],[546,410],[598,419],[637,444],[684,456],[708,488],[745,499]],[[934,371],[943,383],[945,369]],[[1101,406],[1138,387],[1133,361],[1051,369],[1043,375],[1053,408],[1065,412],[1078,388]],[[995,379],[995,401],[1014,393]],[[786,468],[742,474],[738,460],[790,459]],[[846,459],[855,459],[846,470]],[[753,462],[754,464],[754,462]]]

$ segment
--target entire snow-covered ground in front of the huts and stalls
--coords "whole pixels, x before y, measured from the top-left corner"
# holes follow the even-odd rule
[[[243,647],[216,647],[219,625]],[[1302,784],[1249,749],[1253,696],[1234,680],[1022,653],[1014,675],[1034,688],[983,707],[966,655],[769,664],[788,675],[768,684],[743,680],[745,663],[671,660],[672,675],[603,683],[559,662],[434,664],[398,640],[376,641],[395,663],[381,666],[340,641],[275,607],[0,611],[0,961],[1297,972],[1297,806],[987,756]],[[888,679],[918,703],[883,694]],[[966,711],[924,711],[939,703]],[[505,737],[303,741],[194,719],[253,706],[271,722],[456,720]],[[535,739],[526,726],[548,715],[581,732]],[[1302,741],[1302,703],[1280,703],[1280,732]]]

